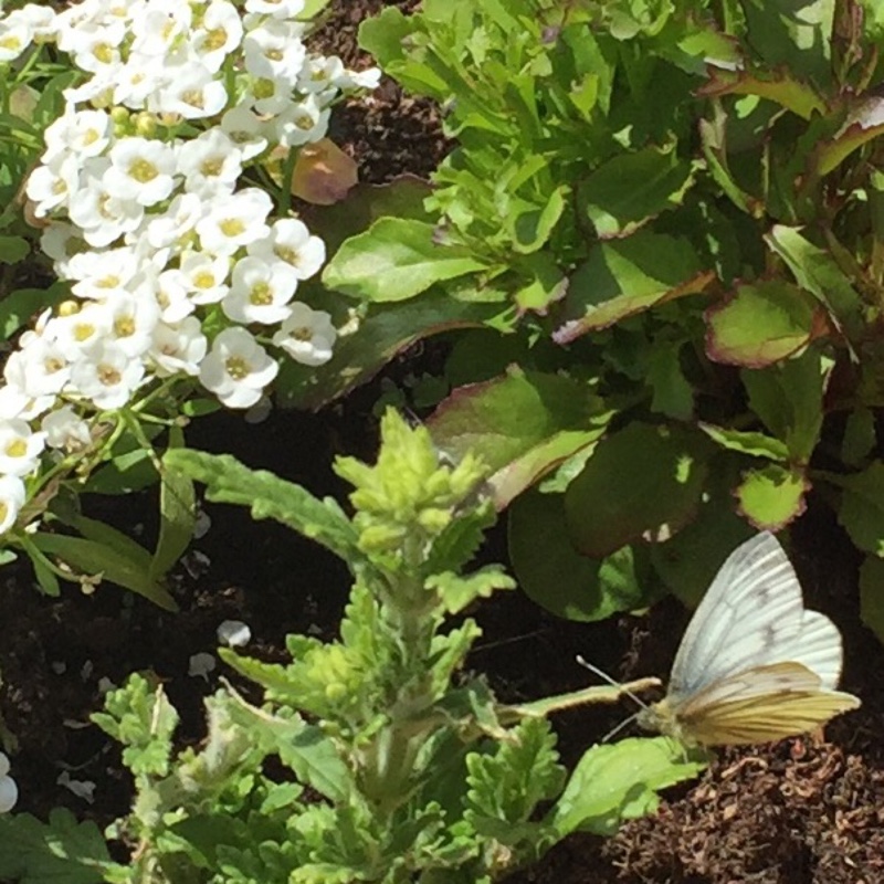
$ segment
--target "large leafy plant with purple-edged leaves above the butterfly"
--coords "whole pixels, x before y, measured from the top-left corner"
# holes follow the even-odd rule
[[[369,345],[377,365],[481,328],[450,336],[430,425],[515,501],[532,596],[598,619],[656,573],[696,599],[813,487],[869,554],[884,634],[882,9],[425,0],[364,23],[455,147],[432,189],[349,208],[361,232],[323,278],[366,312],[364,349],[313,394],[370,370]]]

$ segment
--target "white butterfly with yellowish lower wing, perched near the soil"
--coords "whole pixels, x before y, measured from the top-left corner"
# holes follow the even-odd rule
[[[841,662],[836,627],[804,609],[791,562],[764,532],[728,556],[682,639],[665,698],[638,720],[690,745],[806,734],[860,705],[835,690]]]

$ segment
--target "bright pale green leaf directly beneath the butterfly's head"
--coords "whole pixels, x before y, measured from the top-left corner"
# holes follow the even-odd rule
[[[548,822],[560,838],[578,830],[612,835],[624,820],[653,813],[661,789],[693,779],[705,766],[669,737],[593,746],[578,761]]]

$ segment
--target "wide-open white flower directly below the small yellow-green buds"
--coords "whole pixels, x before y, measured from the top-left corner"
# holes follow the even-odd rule
[[[108,154],[110,168],[104,185],[112,197],[154,206],[175,187],[175,151],[170,145],[149,138],[122,138]]]

